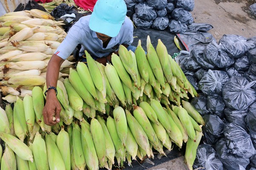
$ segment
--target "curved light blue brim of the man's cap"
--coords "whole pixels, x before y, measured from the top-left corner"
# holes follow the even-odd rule
[[[89,27],[91,30],[95,32],[99,32],[101,34],[105,34],[109,37],[116,37],[121,29],[122,23],[113,24],[106,22],[104,20],[100,20],[95,17],[93,14],[90,17]]]

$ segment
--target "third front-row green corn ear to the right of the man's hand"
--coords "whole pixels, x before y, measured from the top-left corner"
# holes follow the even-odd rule
[[[90,125],[87,127],[87,122],[83,119],[81,124],[81,143],[84,151],[84,157],[87,167],[90,170],[99,170],[99,160],[96,154],[96,149],[93,143],[93,138],[90,134]]]

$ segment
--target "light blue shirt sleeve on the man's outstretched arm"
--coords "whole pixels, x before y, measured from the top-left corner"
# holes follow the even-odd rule
[[[76,46],[81,42],[81,29],[79,23],[74,24],[67,33],[67,36],[58,46],[55,51],[55,55],[61,57],[62,59],[67,59],[70,54],[74,51]]]

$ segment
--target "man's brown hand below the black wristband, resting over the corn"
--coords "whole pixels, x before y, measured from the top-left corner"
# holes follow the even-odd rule
[[[46,125],[53,126],[60,122],[60,112],[61,104],[57,99],[55,91],[51,89],[47,92],[47,100],[44,105],[44,123]]]

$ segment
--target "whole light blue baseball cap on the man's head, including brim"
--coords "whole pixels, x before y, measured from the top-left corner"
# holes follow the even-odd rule
[[[98,0],[90,17],[89,27],[95,32],[116,37],[125,21],[124,0]]]

